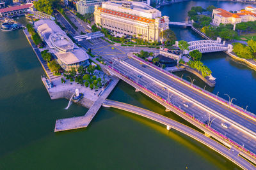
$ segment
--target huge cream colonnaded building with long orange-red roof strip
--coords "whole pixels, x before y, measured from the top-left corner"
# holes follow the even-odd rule
[[[95,24],[125,35],[136,35],[147,41],[161,41],[159,33],[169,29],[169,17],[161,11],[134,1],[108,1],[95,5]]]

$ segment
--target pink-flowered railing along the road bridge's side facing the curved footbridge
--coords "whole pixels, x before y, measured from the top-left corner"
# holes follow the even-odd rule
[[[219,136],[222,139],[225,139],[225,141],[228,141],[229,143],[231,143],[233,146],[236,146],[237,148],[239,148],[240,150],[242,150],[245,153],[248,153],[249,155],[251,155],[252,157],[256,158],[255,153],[250,152],[249,150],[247,150],[246,148],[244,148],[244,146],[241,146],[239,144],[237,144],[235,141],[232,141],[231,139],[227,138],[227,136],[221,134],[220,132],[216,131],[215,129],[212,129],[211,127],[209,127],[207,124],[204,124],[204,122],[201,122],[200,120],[198,120],[197,118],[193,117],[192,115],[190,115],[189,113],[186,113],[186,111],[178,108],[177,106],[173,105],[172,103],[166,101],[166,99],[163,99],[163,97],[158,96],[156,93],[152,92],[151,90],[146,89],[145,87],[143,87],[142,85],[140,85],[139,83],[137,83],[136,81],[132,80],[131,78],[129,78],[128,76],[126,76],[125,74],[120,73],[120,71],[116,70],[115,68],[112,68],[111,66],[108,66],[109,69],[112,69],[113,71],[115,71],[117,74],[120,74],[122,77],[126,78],[127,80],[131,81],[132,83],[134,83],[135,85],[137,85],[138,87],[140,87],[141,89],[145,90],[145,92],[148,92],[149,94],[151,94],[152,96],[156,97],[157,99],[159,99],[160,101],[163,101],[164,103],[168,104],[169,106],[171,106],[172,108],[174,108],[176,111],[178,111],[179,113],[186,115],[186,117],[190,118],[191,120],[195,121],[197,124],[200,124],[204,127],[206,127],[209,131],[213,132],[213,134],[216,134],[217,136]]]

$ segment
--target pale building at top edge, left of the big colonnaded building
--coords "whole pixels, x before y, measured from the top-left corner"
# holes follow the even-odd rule
[[[93,13],[95,4],[101,5],[104,0],[81,0],[76,2],[76,10],[81,15]]]

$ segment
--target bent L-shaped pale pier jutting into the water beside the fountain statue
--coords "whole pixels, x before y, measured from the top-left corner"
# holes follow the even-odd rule
[[[86,112],[84,116],[81,117],[71,117],[71,118],[62,118],[56,120],[54,132],[60,131],[68,131],[72,129],[80,129],[84,127],[88,127],[93,117],[95,117],[97,111],[99,111],[102,103],[106,100],[112,90],[115,88],[116,84],[120,80],[119,78],[113,76],[111,83],[109,83],[108,87],[101,94],[99,99],[93,103],[92,107]]]

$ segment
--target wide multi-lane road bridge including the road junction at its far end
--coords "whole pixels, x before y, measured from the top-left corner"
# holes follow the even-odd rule
[[[163,105],[166,111],[173,111],[202,129],[206,135],[221,141],[223,145],[228,143],[240,148],[244,154],[248,153],[248,157],[252,155],[255,159],[256,118],[253,113],[248,113],[144,60],[129,58],[125,52],[102,39],[81,41],[81,45],[92,48],[93,55],[100,53],[98,55],[109,66],[109,73],[132,85],[136,91],[151,97]],[[222,127],[223,123],[228,124],[228,127]]]

